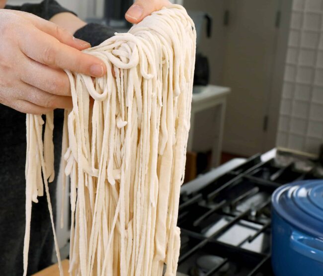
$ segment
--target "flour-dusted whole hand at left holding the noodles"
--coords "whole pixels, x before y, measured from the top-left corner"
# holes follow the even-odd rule
[[[35,15],[0,9],[0,103],[23,113],[72,107],[69,69],[100,77],[103,62],[90,45]]]

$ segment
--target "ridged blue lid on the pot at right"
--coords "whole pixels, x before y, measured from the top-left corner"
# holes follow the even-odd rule
[[[272,195],[272,205],[293,226],[323,238],[323,180],[281,186]]]

